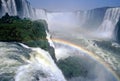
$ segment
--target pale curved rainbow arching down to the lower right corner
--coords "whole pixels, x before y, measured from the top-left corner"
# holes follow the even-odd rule
[[[85,48],[79,46],[79,45],[76,45],[74,43],[71,43],[69,41],[66,41],[66,40],[63,40],[63,39],[56,39],[56,38],[52,38],[51,39],[53,42],[56,42],[56,43],[60,43],[60,44],[64,44],[64,45],[68,45],[68,46],[71,46],[73,48],[76,48],[78,50],[81,50],[82,52],[84,52],[85,54],[88,54],[90,57],[92,57],[94,60],[98,61],[100,64],[104,65],[106,68],[108,68],[108,70],[115,76],[115,78],[120,81],[120,77],[117,75],[117,73],[113,70],[113,68],[108,64],[106,63],[102,58],[100,58],[98,55],[92,53],[91,51],[88,51],[86,50]]]

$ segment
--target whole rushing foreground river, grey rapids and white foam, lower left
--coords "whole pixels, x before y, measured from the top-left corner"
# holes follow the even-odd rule
[[[0,42],[0,81],[66,81],[50,54],[20,43]]]

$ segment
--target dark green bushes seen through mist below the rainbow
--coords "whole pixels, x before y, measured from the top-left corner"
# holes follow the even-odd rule
[[[81,64],[80,58],[78,57],[68,57],[64,60],[59,60],[57,64],[67,79],[72,77],[87,76],[88,71]]]

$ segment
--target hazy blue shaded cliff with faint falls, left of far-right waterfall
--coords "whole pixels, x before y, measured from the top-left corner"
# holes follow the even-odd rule
[[[86,11],[77,11],[80,28],[85,28],[86,30],[96,30],[102,23],[107,9],[107,7],[104,7]]]

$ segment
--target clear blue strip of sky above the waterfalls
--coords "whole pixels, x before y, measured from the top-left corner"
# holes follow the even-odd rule
[[[28,0],[35,8],[49,11],[89,10],[99,7],[120,6],[120,0]]]

